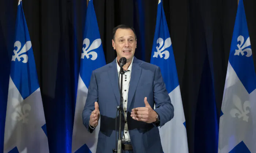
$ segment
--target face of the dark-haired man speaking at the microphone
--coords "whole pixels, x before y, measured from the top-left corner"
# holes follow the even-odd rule
[[[135,34],[131,29],[117,29],[114,40],[112,39],[112,46],[117,53],[117,61],[125,57],[127,62],[130,62],[137,47],[137,40]]]

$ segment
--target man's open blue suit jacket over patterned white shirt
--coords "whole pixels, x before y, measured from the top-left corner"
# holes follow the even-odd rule
[[[135,107],[145,107],[144,97],[150,106],[159,114],[160,126],[170,121],[174,115],[174,108],[170,101],[165,83],[163,82],[160,68],[153,64],[143,62],[134,57],[131,72],[131,81],[128,92],[127,124],[135,153],[162,153],[161,140],[158,127],[153,123],[136,121],[131,118],[131,111]],[[118,86],[118,73],[116,59],[101,68],[93,71],[84,110],[82,113],[83,124],[89,130],[91,112],[94,102],[99,104],[101,125],[98,135],[98,153],[112,153],[116,148],[115,119],[120,104],[120,91]],[[124,130],[124,115],[122,115],[121,136]]]

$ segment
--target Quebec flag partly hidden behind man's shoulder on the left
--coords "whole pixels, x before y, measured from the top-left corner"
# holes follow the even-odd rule
[[[93,0],[89,0],[84,28],[84,40],[80,62],[76,109],[72,136],[72,153],[95,153],[98,142],[100,119],[93,133],[83,125],[82,113],[93,70],[106,64]]]

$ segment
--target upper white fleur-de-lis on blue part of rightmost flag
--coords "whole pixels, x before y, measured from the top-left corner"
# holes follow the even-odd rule
[[[246,42],[244,43],[244,37],[239,36],[237,38],[237,42],[238,42],[238,44],[237,44],[238,50],[236,50],[234,55],[239,56],[239,54],[241,53],[241,55],[244,56],[244,52],[247,52],[247,54],[245,56],[247,56],[247,57],[252,56],[252,49],[251,48],[244,49],[245,47],[251,46],[250,37],[248,37]],[[239,42],[240,42],[240,44],[239,44]]]

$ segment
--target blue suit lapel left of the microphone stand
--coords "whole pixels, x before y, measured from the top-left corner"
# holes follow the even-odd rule
[[[109,64],[109,80],[112,86],[112,89],[114,91],[114,95],[116,97],[117,105],[120,105],[120,91],[119,91],[119,85],[118,85],[118,74],[117,74],[117,65],[116,65],[116,59]]]

